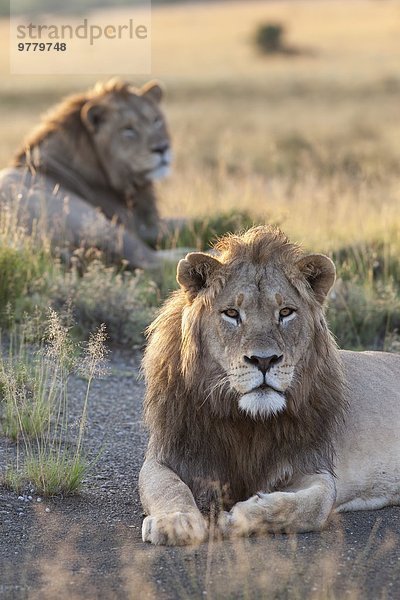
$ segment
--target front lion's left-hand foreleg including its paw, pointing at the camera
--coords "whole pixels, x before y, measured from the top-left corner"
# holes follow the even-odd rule
[[[144,542],[182,546],[207,538],[207,524],[188,486],[174,471],[146,458],[139,475],[139,492],[147,517]]]

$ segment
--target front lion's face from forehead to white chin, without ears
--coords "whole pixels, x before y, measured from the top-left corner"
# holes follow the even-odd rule
[[[206,313],[205,341],[251,414],[285,408],[285,392],[312,337],[305,302],[283,273],[243,266]]]

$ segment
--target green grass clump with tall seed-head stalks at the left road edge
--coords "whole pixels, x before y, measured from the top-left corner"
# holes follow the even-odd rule
[[[13,489],[29,484],[42,495],[76,492],[89,468],[84,455],[90,387],[103,372],[105,326],[93,333],[84,350],[71,335],[72,324],[54,310],[41,342],[30,346],[24,328],[9,339],[8,355],[0,360],[3,433],[17,443],[16,462],[5,476]],[[78,431],[70,424],[72,374],[87,379]],[[0,404],[1,408],[1,404]]]

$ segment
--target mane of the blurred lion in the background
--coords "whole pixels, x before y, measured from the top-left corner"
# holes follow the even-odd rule
[[[81,110],[89,101],[105,102],[110,107],[119,103],[129,105],[136,93],[140,93],[139,90],[128,83],[112,79],[65,98],[49,110],[43,121],[28,134],[12,159],[11,166],[26,166],[32,172],[55,177],[57,183],[83,196],[93,206],[98,206],[108,218],[117,217],[128,227],[132,225],[118,216],[116,205],[130,208],[132,221],[137,220],[152,230],[148,236],[151,240],[146,241],[154,243],[159,216],[153,184],[130,181],[126,182],[125,189],[116,189],[110,183],[109,175],[98,158],[90,133],[81,118]],[[163,143],[167,140],[167,134],[163,133]],[[66,164],[74,165],[73,177],[64,170]],[[92,195],[92,184],[104,188],[109,195],[108,203],[100,203],[98,194]],[[135,230],[140,231],[139,224],[135,224]]]

